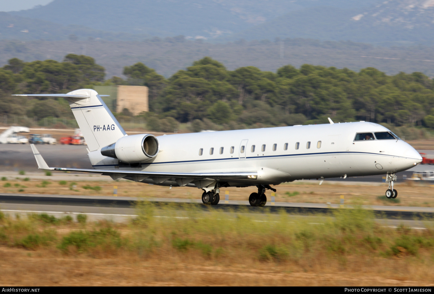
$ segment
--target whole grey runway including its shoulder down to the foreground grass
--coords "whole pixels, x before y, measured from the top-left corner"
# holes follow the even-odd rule
[[[220,202],[219,205],[203,205],[200,200],[191,199],[167,199],[167,198],[129,198],[129,197],[91,197],[91,196],[65,196],[65,195],[25,195],[25,194],[0,194],[0,210],[10,216],[26,216],[30,213],[46,213],[57,218],[71,215],[76,218],[78,214],[85,214],[89,221],[102,219],[125,222],[137,217],[135,208],[137,201],[149,201],[155,205],[155,217],[185,218],[185,211],[197,210],[200,213],[220,211],[232,218],[235,214],[248,214],[254,216],[256,221],[265,219],[266,214],[278,216],[285,211],[294,217],[327,218],[333,216],[333,211],[339,205],[322,205],[312,203],[284,203],[270,202],[263,208],[251,207],[247,201]],[[176,211],[167,215],[167,209]],[[351,206],[345,206],[351,208]],[[404,224],[410,228],[424,229],[431,227],[434,219],[434,208],[425,207],[388,207],[372,206],[364,207],[372,209],[376,221],[385,226],[396,227]]]

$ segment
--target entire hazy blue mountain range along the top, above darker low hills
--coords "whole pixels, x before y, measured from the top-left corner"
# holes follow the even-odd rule
[[[22,17],[23,23],[33,21],[27,26],[38,33],[27,29],[29,36],[21,31],[14,35],[0,20],[2,39],[48,37],[43,34],[52,34],[49,40],[69,34],[106,40],[184,35],[214,42],[279,37],[434,44],[434,0],[55,0],[9,15]],[[49,25],[39,20],[51,23],[52,33],[41,32],[40,27]]]

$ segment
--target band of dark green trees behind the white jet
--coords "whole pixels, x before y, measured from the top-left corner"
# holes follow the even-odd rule
[[[0,115],[71,118],[62,99],[11,97],[13,93],[66,93],[92,85],[145,85],[150,89],[148,127],[191,123],[200,129],[365,120],[389,126],[434,128],[434,83],[422,73],[388,76],[375,68],[359,72],[304,64],[276,73],[253,66],[233,71],[210,57],[165,79],[143,63],[124,68],[127,79],[104,81],[104,69],[88,56],[69,54],[63,62],[11,59],[0,69]],[[123,116],[128,116],[125,111]],[[399,135],[399,134],[398,134]]]

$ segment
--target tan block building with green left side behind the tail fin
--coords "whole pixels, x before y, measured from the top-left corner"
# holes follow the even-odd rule
[[[128,109],[133,115],[149,111],[148,87],[145,86],[94,86],[93,89],[101,95],[102,100],[112,112],[122,112]]]

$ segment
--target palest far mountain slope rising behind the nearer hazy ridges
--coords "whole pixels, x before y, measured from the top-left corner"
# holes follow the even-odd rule
[[[11,12],[95,30],[165,37],[217,38],[247,30],[306,7],[360,7],[377,0],[55,0],[46,6]],[[362,5],[362,6],[363,6]],[[67,12],[67,13],[65,13]]]

